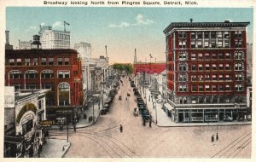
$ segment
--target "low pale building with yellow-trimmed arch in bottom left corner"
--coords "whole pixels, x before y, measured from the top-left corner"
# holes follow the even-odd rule
[[[4,157],[33,157],[44,144],[40,122],[46,119],[48,90],[20,90],[5,87]]]

